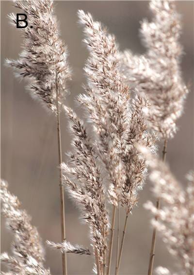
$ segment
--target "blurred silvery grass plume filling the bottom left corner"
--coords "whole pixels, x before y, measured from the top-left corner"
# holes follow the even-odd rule
[[[17,197],[8,191],[8,185],[1,180],[1,211],[6,219],[7,227],[14,234],[12,243],[13,256],[1,254],[1,262],[11,274],[49,275],[43,267],[44,250],[42,241],[35,226],[31,225],[31,217],[20,207]]]

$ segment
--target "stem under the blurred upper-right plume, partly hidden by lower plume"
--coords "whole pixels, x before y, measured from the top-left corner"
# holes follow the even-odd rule
[[[166,160],[166,148],[167,148],[167,139],[164,140],[163,151],[162,151],[162,161],[165,162]],[[156,208],[160,209],[160,198],[156,201]],[[158,220],[158,216],[155,216],[155,220]],[[148,268],[148,275],[152,275],[153,273],[153,265],[154,265],[154,258],[155,258],[155,247],[156,247],[156,228],[153,229],[152,234],[152,243],[151,243],[151,251],[149,257],[149,268]]]

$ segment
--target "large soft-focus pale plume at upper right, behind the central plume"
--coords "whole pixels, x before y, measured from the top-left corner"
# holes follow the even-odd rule
[[[149,97],[147,117],[151,127],[167,140],[176,132],[176,121],[188,92],[179,65],[181,22],[174,1],[152,0],[150,10],[152,22],[144,20],[141,25],[146,54],[138,56],[126,51],[120,61],[126,81]]]

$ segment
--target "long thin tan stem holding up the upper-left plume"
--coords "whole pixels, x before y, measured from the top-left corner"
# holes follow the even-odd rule
[[[57,79],[57,76],[56,76]],[[63,172],[61,168],[62,163],[62,150],[61,150],[61,124],[60,124],[60,112],[58,103],[58,85],[56,81],[56,94],[57,94],[57,140],[58,140],[58,158],[59,158],[59,187],[60,187],[60,204],[61,204],[61,237],[62,241],[65,241],[65,197],[64,197],[64,187],[63,187]],[[63,265],[63,275],[67,275],[67,262],[66,253],[62,253],[62,265]]]

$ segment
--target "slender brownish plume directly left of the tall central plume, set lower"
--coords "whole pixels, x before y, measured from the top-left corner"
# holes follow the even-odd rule
[[[64,184],[68,187],[71,197],[81,207],[82,217],[90,226],[97,269],[98,265],[103,269],[107,249],[108,213],[100,167],[96,161],[93,141],[84,123],[69,107],[65,107],[65,111],[74,135],[74,150],[69,153],[69,164],[62,164]]]

